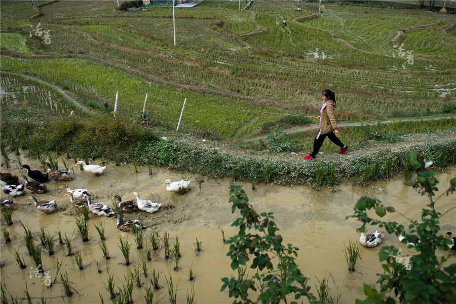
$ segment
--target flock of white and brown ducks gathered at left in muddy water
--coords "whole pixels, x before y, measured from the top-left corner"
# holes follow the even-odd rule
[[[85,172],[92,173],[95,175],[100,175],[103,173],[106,166],[86,164],[84,161],[78,161],[75,166],[82,165]],[[31,170],[30,166],[27,164],[22,165],[21,169],[27,170],[27,176],[20,175],[24,180],[24,184],[19,183],[19,178],[10,173],[0,173],[0,185],[2,186],[3,192],[10,196],[19,196],[24,194],[25,188],[30,192],[35,194],[45,193],[47,191],[47,186],[42,184],[53,178],[56,180],[69,180],[70,179],[70,170],[53,170],[49,162],[43,163],[43,166],[48,168],[46,174],[42,173],[39,170]],[[31,180],[29,180],[31,179]],[[188,188],[190,181],[181,180],[179,182],[171,182],[171,180],[166,180],[163,186],[166,185],[166,190],[170,192],[184,191]],[[115,214],[114,210],[104,204],[99,202],[92,202],[91,195],[88,192],[88,189],[74,189],[71,190],[67,185],[62,185],[59,188],[65,188],[67,193],[64,196],[68,196],[73,205],[76,208],[88,208],[88,210],[98,216],[105,217],[116,217],[117,218],[117,228],[121,231],[131,230],[132,226],[135,225],[136,228],[144,228],[138,219],[135,220],[123,220],[121,214]],[[118,208],[121,212],[133,213],[133,212],[148,212],[154,213],[157,212],[162,204],[153,202],[151,200],[141,199],[138,192],[131,193],[136,196],[134,200],[122,201],[122,198],[119,195],[115,195],[112,199],[116,199]],[[36,197],[29,195],[26,199],[31,199],[34,202],[36,209],[43,212],[43,214],[53,213],[58,210],[56,200],[38,200]],[[1,199],[2,207],[11,207],[13,205],[12,198]]]

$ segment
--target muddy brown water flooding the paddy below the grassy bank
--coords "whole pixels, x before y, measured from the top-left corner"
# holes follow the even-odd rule
[[[22,157],[23,163],[29,163],[32,167],[37,167],[33,160]],[[95,162],[97,163],[97,162]],[[74,163],[71,161],[71,164]],[[13,163],[14,167],[15,164]],[[133,166],[130,164],[130,168]],[[49,256],[46,251],[42,252],[43,267],[45,271],[50,271],[50,276],[54,280],[56,258],[63,260],[61,272],[66,271],[70,281],[74,283],[74,289],[79,292],[74,293],[71,298],[62,297],[62,288],[57,280],[57,284],[48,288],[42,278],[29,277],[30,272],[35,268],[33,261],[27,254],[26,248],[21,244],[23,229],[19,225],[19,220],[26,223],[34,232],[35,244],[39,243],[37,233],[40,228],[46,232],[53,233],[57,238],[56,232],[60,229],[71,234],[75,228],[74,215],[75,208],[69,204],[69,199],[64,197],[65,191],[59,186],[66,183],[73,188],[87,188],[94,197],[94,201],[111,204],[111,197],[119,194],[123,199],[133,199],[130,195],[137,191],[141,198],[151,199],[161,202],[162,209],[155,214],[137,213],[125,214],[126,219],[140,218],[143,223],[150,225],[158,230],[161,235],[163,231],[170,232],[171,246],[176,240],[180,242],[182,259],[178,272],[173,270],[173,261],[164,259],[164,248],[162,247],[153,253],[153,261],[148,262],[148,277],[142,276],[142,288],[134,288],[133,299],[136,303],[144,302],[144,286],[150,285],[150,273],[153,268],[160,272],[160,283],[164,287],[156,291],[155,298],[162,303],[168,302],[166,294],[166,284],[164,277],[171,276],[173,282],[177,282],[177,300],[179,303],[185,302],[187,290],[194,287],[196,301],[198,303],[231,303],[233,300],[228,297],[226,292],[219,292],[222,277],[237,276],[232,272],[230,259],[226,257],[228,246],[222,244],[220,228],[225,231],[226,238],[235,233],[235,229],[230,225],[238,214],[231,213],[229,199],[228,180],[209,180],[202,184],[199,189],[198,183],[192,181],[191,191],[184,195],[169,193],[162,186],[166,179],[180,180],[182,174],[171,172],[163,168],[153,170],[153,175],[149,176],[147,167],[138,167],[138,173],[131,173],[127,166],[117,167],[115,170],[111,164],[107,165],[105,173],[100,177],[80,171],[79,167],[74,167],[74,179],[69,182],[50,181],[47,183],[48,192],[37,194],[39,199],[57,199],[60,210],[53,215],[41,215],[32,205],[30,200],[26,200],[27,195],[15,198],[16,210],[13,213],[13,226],[5,226],[2,220],[2,230],[7,229],[10,233],[12,243],[5,245],[2,234],[0,247],[1,261],[5,262],[0,271],[0,280],[13,295],[22,298],[25,291],[25,284],[28,286],[33,302],[36,302],[42,295],[48,298],[48,303],[99,303],[100,292],[104,301],[109,303],[108,292],[104,289],[108,273],[116,277],[116,286],[124,283],[124,276],[128,277],[133,272],[133,267],[142,260],[145,260],[145,249],[137,250],[134,238],[131,233],[120,232],[116,228],[114,219],[101,218],[90,215],[89,221],[89,242],[83,243],[75,232],[72,238],[74,251],[80,251],[83,257],[85,269],[79,270],[73,261],[73,257],[66,256],[64,245],[55,245],[56,254]],[[2,168],[2,172],[6,171]],[[20,170],[13,169],[10,172],[19,174]],[[451,167],[445,173],[439,175],[442,184],[449,184],[450,177],[456,176],[456,167]],[[344,242],[349,240],[356,241],[359,235],[356,228],[359,223],[353,219],[346,220],[347,215],[353,212],[356,200],[363,195],[371,195],[381,199],[386,205],[394,206],[398,211],[406,214],[410,218],[420,218],[420,210],[426,205],[424,197],[416,194],[413,189],[404,185],[400,178],[391,180],[390,183],[376,182],[368,187],[352,186],[343,184],[338,191],[332,189],[322,189],[315,191],[306,186],[268,186],[260,184],[256,190],[252,190],[250,184],[240,184],[247,192],[251,204],[259,212],[274,212],[280,233],[284,237],[285,243],[292,243],[299,248],[297,262],[301,271],[311,279],[312,292],[316,294],[314,284],[315,276],[322,278],[327,271],[330,292],[333,297],[336,294],[336,286],[343,291],[341,302],[353,303],[358,297],[363,298],[363,282],[374,283],[377,273],[383,273],[381,264],[378,261],[377,253],[379,248],[367,249],[361,247],[362,261],[357,265],[357,271],[350,274],[347,270],[345,257],[342,253]],[[441,187],[443,188],[443,187]],[[2,192],[2,195],[3,192]],[[443,197],[439,203],[439,210],[445,211],[454,206],[455,196]],[[395,220],[406,224],[405,220],[398,214],[387,215],[386,220]],[[105,260],[102,256],[100,239],[93,224],[103,223],[105,225],[106,245],[111,259]],[[456,211],[442,218],[441,224],[443,231],[456,232]],[[151,231],[147,229],[148,233]],[[3,231],[2,231],[3,232]],[[123,256],[118,248],[119,237],[127,237],[131,246],[129,266],[123,265]],[[195,254],[195,239],[201,240],[204,251],[199,255]],[[57,242],[56,242],[57,243]],[[385,245],[394,244],[402,248],[404,255],[413,254],[403,245],[399,244],[394,236],[386,235]],[[27,267],[20,269],[14,259],[14,249],[24,257]],[[447,254],[447,253],[442,253]],[[98,274],[94,260],[97,260],[102,268],[102,273]],[[456,262],[452,258],[450,263]],[[196,275],[195,281],[188,280],[188,271],[192,267]],[[253,271],[250,271],[253,274]]]

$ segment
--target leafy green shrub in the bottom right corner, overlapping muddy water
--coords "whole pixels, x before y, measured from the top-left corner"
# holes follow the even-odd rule
[[[456,302],[456,264],[447,267],[443,265],[454,256],[438,253],[447,251],[451,241],[445,239],[440,232],[440,218],[455,207],[451,207],[443,214],[438,212],[436,202],[442,196],[450,195],[456,191],[456,178],[450,180],[450,186],[439,196],[436,173],[428,170],[425,162],[415,152],[408,154],[408,171],[416,173],[417,178],[409,183],[418,193],[429,198],[429,204],[422,211],[421,221],[409,219],[407,216],[394,210],[393,207],[386,207],[376,198],[368,196],[361,197],[355,206],[355,214],[347,218],[357,218],[363,223],[360,229],[366,224],[385,227],[388,233],[395,233],[397,236],[404,229],[404,225],[397,222],[386,222],[371,218],[367,211],[374,209],[379,217],[388,213],[398,213],[407,222],[409,233],[404,244],[414,247],[417,254],[411,257],[403,257],[401,250],[395,246],[384,246],[378,253],[384,269],[384,274],[377,274],[377,283],[380,292],[364,284],[364,293],[368,296],[364,301],[357,299],[356,304],[361,303],[396,303],[393,297],[386,297],[387,293],[394,291],[400,303],[454,303]],[[416,241],[414,241],[416,238]],[[411,244],[411,242],[413,242]]]

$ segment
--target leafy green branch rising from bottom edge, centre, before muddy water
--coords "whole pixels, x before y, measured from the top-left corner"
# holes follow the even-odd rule
[[[241,213],[241,217],[232,224],[239,227],[239,233],[225,242],[230,244],[227,256],[231,257],[231,268],[235,271],[240,265],[247,265],[252,260],[250,268],[256,268],[257,272],[251,278],[246,276],[242,280],[233,277],[223,278],[221,291],[228,288],[229,296],[236,298],[234,303],[279,303],[286,300],[289,294],[294,294],[296,300],[307,297],[311,303],[316,302],[315,296],[309,292],[309,279],[296,265],[298,248],[291,244],[287,247],[282,245],[283,239],[277,233],[279,228],[274,223],[273,214],[257,214],[240,186],[232,185],[230,195],[230,202],[233,203],[232,212],[239,209]],[[247,229],[253,230],[252,233],[246,232]],[[277,258],[278,263],[273,263],[274,258]],[[285,275],[280,271],[284,268],[287,269]],[[248,292],[256,292],[256,286],[264,288],[261,288],[256,301],[252,301],[248,298]]]

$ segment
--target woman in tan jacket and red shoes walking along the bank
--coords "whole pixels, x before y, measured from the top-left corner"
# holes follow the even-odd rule
[[[304,159],[315,159],[326,137],[340,147],[339,154],[344,154],[348,150],[348,147],[337,138],[339,131],[334,117],[335,94],[331,90],[324,90],[322,98],[323,104],[320,107],[320,115],[317,117],[320,119],[320,131],[314,140],[314,151],[304,156]]]

